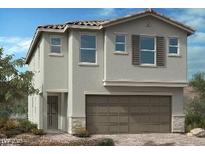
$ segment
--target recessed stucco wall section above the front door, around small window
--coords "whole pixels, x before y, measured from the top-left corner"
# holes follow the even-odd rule
[[[50,39],[61,37],[61,53],[51,54]],[[68,41],[67,34],[44,33],[44,87],[46,90],[67,89],[68,87]]]

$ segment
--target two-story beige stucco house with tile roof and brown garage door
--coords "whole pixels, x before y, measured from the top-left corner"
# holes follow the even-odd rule
[[[29,120],[74,133],[184,132],[187,37],[153,10],[108,21],[39,26],[26,63],[40,90]]]

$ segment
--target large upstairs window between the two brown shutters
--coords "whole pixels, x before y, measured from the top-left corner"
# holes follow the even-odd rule
[[[140,37],[140,64],[155,65],[156,45],[155,38],[149,36]]]

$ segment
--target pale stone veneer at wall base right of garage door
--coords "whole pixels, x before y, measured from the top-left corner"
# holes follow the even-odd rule
[[[184,115],[173,115],[172,116],[172,132],[184,133],[185,132],[185,116]]]

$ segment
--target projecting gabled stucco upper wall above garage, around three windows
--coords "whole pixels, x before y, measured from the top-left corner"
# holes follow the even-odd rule
[[[149,23],[150,27],[146,25]],[[126,34],[126,49],[128,55],[116,55],[115,35],[116,33]],[[132,65],[132,44],[131,36],[148,35],[163,36],[166,39],[168,47],[168,37],[177,37],[179,39],[179,57],[168,56],[166,48],[165,67],[142,67]],[[124,24],[116,25],[105,30],[106,38],[106,80],[131,80],[131,81],[175,81],[186,82],[186,32],[177,29],[174,26],[166,24],[153,17],[130,21]],[[113,71],[115,70],[115,71]],[[180,72],[180,73],[179,73]]]

